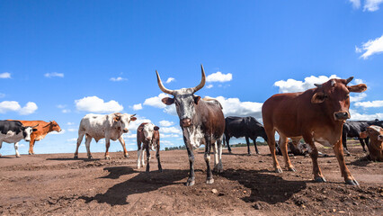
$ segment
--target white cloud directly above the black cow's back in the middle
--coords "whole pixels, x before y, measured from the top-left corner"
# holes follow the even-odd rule
[[[225,98],[223,96],[216,97],[223,107],[225,116],[254,116],[257,119],[262,118],[263,103],[241,102],[238,98]]]

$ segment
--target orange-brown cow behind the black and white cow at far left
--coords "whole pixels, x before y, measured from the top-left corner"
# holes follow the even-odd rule
[[[33,151],[33,147],[34,147],[34,143],[36,141],[40,141],[41,139],[44,139],[45,136],[47,136],[47,134],[51,131],[61,131],[61,128],[60,126],[58,126],[58,122],[56,121],[22,121],[22,120],[17,120],[17,121],[20,121],[22,122],[22,125],[24,126],[34,126],[34,125],[37,125],[39,124],[39,126],[37,126],[35,129],[37,129],[36,131],[33,130],[33,132],[31,133],[31,140],[30,140],[30,149],[28,151],[28,153],[30,155],[34,155],[34,151]]]

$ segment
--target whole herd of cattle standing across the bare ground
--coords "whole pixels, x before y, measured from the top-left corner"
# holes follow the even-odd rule
[[[282,169],[276,153],[281,153],[285,161],[285,168],[289,171],[295,171],[295,168],[289,160],[288,146],[292,154],[309,154],[312,158],[316,182],[325,182],[325,177],[317,163],[319,152],[315,142],[334,149],[346,184],[358,184],[352,177],[343,157],[343,149],[346,154],[350,154],[346,145],[347,138],[359,139],[364,151],[367,151],[365,148],[367,146],[368,157],[371,160],[383,161],[383,121],[346,121],[351,117],[349,94],[351,92],[361,93],[367,89],[364,84],[348,85],[353,77],[330,79],[305,92],[272,95],[263,103],[262,125],[254,117],[229,116],[225,119],[222,105],[217,100],[208,97],[200,98],[200,96],[195,95],[205,85],[206,76],[202,66],[201,74],[199,85],[170,90],[165,88],[156,71],[157,84],[161,91],[173,95],[173,97],[163,98],[162,102],[166,105],[175,104],[180,126],[183,130],[183,141],[190,163],[189,178],[186,185],[195,184],[193,148],[198,148],[201,144],[205,145],[206,183],[212,184],[214,179],[210,168],[211,148],[213,148],[214,153],[213,171],[222,172],[223,141],[226,141],[227,149],[231,152],[229,145],[231,137],[245,137],[248,154],[251,154],[249,139],[253,140],[255,152],[258,154],[256,139],[262,137],[269,145],[273,167],[278,173],[281,173]],[[90,152],[92,139],[96,141],[105,139],[106,159],[110,158],[108,151],[110,141],[117,139],[122,145],[124,157],[129,157],[122,135],[129,132],[129,122],[136,120],[137,117],[134,114],[120,112],[107,115],[85,115],[78,129],[75,158],[78,157],[78,148],[84,136],[88,158],[92,158]],[[0,148],[3,141],[14,143],[16,157],[20,157],[18,142],[24,139],[30,142],[29,154],[33,155],[35,141],[44,139],[51,131],[59,132],[60,130],[56,121],[0,121]],[[275,140],[275,132],[278,132],[280,137],[278,142]],[[146,151],[147,172],[149,172],[150,149],[156,149],[158,170],[162,172],[159,138],[159,127],[153,123],[144,122],[139,125],[137,131],[138,168],[145,166],[144,151]],[[306,143],[302,143],[301,139]]]

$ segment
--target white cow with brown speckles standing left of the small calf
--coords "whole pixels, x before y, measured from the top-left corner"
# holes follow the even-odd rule
[[[123,133],[129,132],[129,122],[136,121],[134,117],[136,114],[130,115],[127,113],[115,112],[111,114],[87,114],[81,120],[78,128],[77,147],[75,152],[75,158],[78,158],[78,148],[83,141],[85,135],[85,147],[88,158],[92,158],[91,154],[91,141],[94,139],[98,142],[100,139],[105,138],[105,159],[110,159],[109,147],[111,146],[111,140],[115,141],[119,139],[123,151],[124,157],[129,157],[128,151],[125,147],[125,141],[122,137]]]

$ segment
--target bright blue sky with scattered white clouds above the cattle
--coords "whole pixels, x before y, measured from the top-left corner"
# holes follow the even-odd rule
[[[37,142],[38,154],[73,153],[89,112],[137,113],[129,150],[137,149],[142,121],[160,126],[162,148],[183,145],[174,107],[159,101],[155,70],[178,89],[199,84],[200,64],[209,82],[197,94],[217,97],[226,115],[260,120],[272,94],[355,76],[353,84],[369,90],[352,95],[352,119],[383,119],[380,0],[0,5],[0,119],[56,120],[65,130]],[[22,154],[27,146],[21,142]],[[104,151],[104,143],[91,150]],[[14,154],[13,145],[4,143],[0,153]]]

